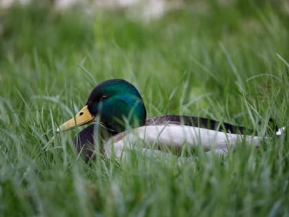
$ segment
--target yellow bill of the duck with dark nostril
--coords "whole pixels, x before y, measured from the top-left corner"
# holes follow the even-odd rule
[[[61,132],[65,130],[71,130],[74,127],[84,125],[85,123],[91,123],[95,121],[96,117],[90,114],[87,105],[83,107],[74,118],[71,118],[69,121],[66,121],[60,127],[56,129],[56,132]]]

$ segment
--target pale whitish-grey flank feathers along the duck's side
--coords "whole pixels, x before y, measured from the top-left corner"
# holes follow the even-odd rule
[[[283,129],[282,129],[283,130]],[[245,141],[259,147],[261,136],[231,134],[216,130],[184,125],[151,125],[123,132],[112,137],[105,143],[105,155],[120,158],[125,149],[133,149],[136,145],[142,148],[169,147],[180,149],[182,145],[195,147],[202,145],[206,152],[213,151],[224,155],[228,148],[234,148],[237,142]]]

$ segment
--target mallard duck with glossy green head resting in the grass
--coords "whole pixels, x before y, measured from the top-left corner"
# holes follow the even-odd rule
[[[56,132],[94,123],[75,136],[73,143],[88,161],[96,145],[106,156],[120,157],[125,147],[140,141],[144,149],[178,150],[183,145],[202,145],[205,151],[224,153],[245,141],[259,147],[263,137],[242,126],[220,123],[208,118],[164,115],[147,119],[142,96],[131,83],[111,79],[97,85],[85,106],[74,118],[66,121]],[[280,132],[279,132],[280,133]],[[278,133],[277,133],[278,134]]]

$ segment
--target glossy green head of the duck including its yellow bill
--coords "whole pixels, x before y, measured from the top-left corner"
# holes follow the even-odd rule
[[[140,93],[131,83],[122,79],[111,79],[100,83],[89,95],[85,106],[56,132],[99,121],[109,131],[123,132],[129,127],[144,125],[147,112]]]

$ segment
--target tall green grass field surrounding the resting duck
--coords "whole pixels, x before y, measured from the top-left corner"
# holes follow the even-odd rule
[[[288,1],[187,1],[150,22],[37,2],[0,11],[0,216],[289,216]],[[148,116],[287,130],[222,158],[87,165],[81,127],[54,130],[113,78],[138,87]]]

